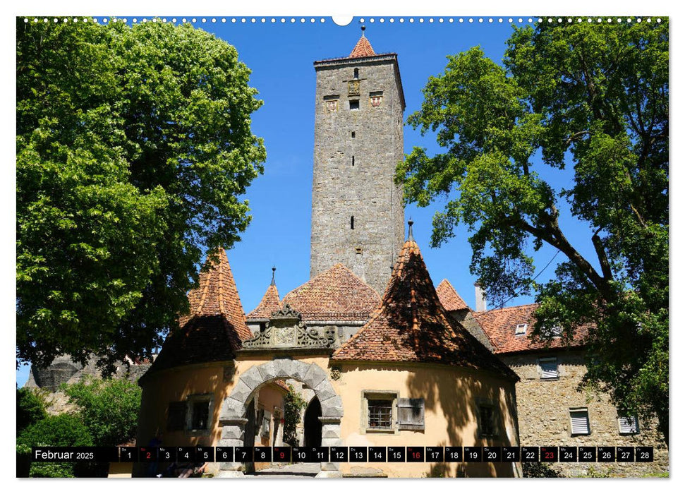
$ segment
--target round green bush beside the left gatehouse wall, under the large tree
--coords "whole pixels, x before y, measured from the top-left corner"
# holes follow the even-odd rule
[[[135,438],[141,390],[126,379],[91,379],[61,390],[78,406],[78,416],[95,446],[116,446]]]

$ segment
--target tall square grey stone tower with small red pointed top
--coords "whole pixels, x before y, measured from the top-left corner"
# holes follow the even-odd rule
[[[345,58],[314,62],[316,112],[310,276],[343,263],[380,295],[404,241],[404,92],[397,55],[364,36]]]

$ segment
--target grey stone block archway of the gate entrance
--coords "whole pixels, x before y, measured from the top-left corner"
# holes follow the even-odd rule
[[[222,403],[219,412],[219,425],[222,426],[222,437],[219,446],[242,446],[245,439],[247,423],[246,406],[253,393],[261,385],[279,378],[295,379],[314,390],[321,404],[320,421],[322,423],[322,446],[342,445],[340,438],[340,421],[343,415],[342,399],[333,390],[326,371],[315,363],[305,363],[292,359],[274,359],[259,366],[250,367],[236,383],[233,391]],[[241,476],[240,463],[221,463],[219,476]],[[324,462],[322,472],[334,474],[340,464]]]

